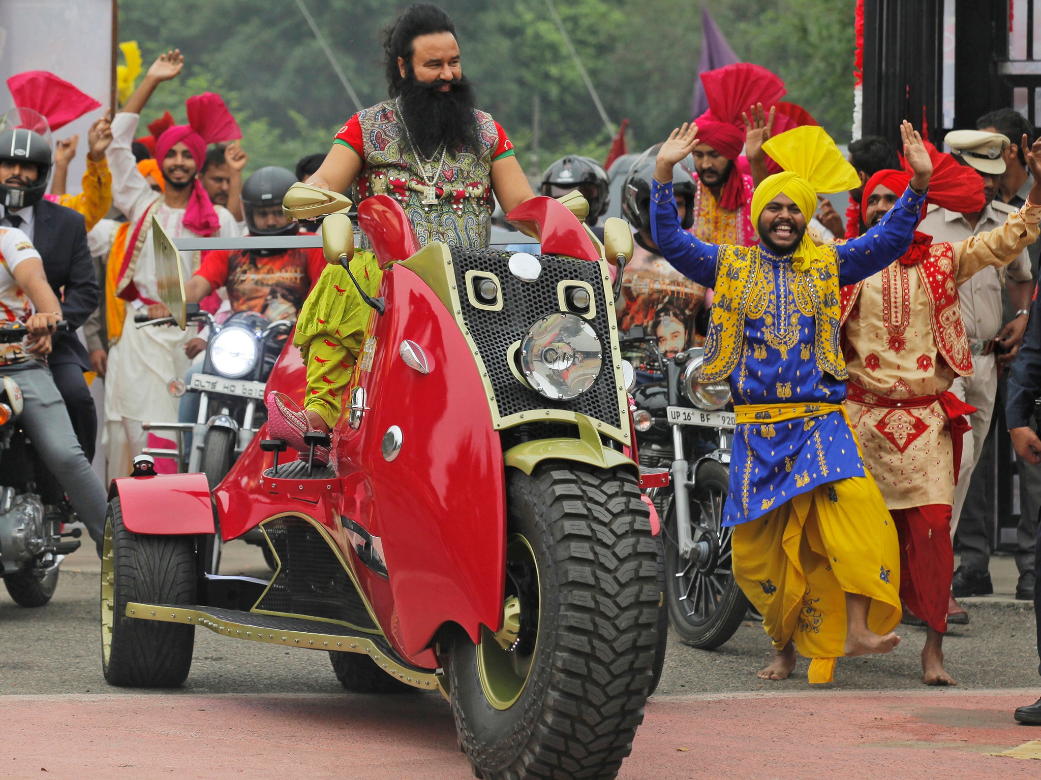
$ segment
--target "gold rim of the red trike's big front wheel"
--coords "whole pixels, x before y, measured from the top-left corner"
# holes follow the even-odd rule
[[[535,551],[519,534],[511,534],[506,542],[506,561],[529,563],[535,570],[536,592],[541,598],[541,581]],[[511,596],[505,599],[503,608],[511,606]],[[536,620],[540,617],[540,604],[535,604]],[[531,676],[532,661],[538,652],[538,628],[531,654],[520,655],[516,650],[506,649],[497,639],[494,631],[481,626],[481,642],[477,646],[477,671],[481,688],[488,703],[496,709],[509,709],[520,698],[528,678]]]

